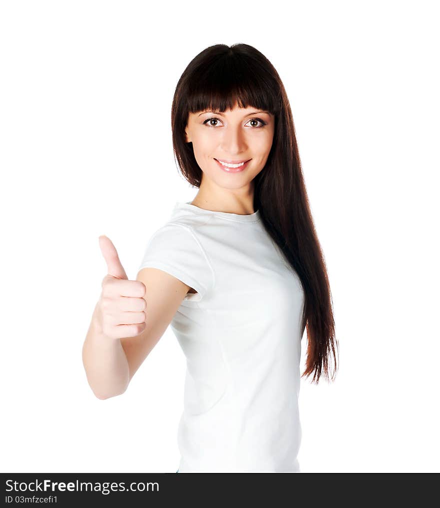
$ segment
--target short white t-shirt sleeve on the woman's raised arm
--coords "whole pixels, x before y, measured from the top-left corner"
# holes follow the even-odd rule
[[[214,284],[214,275],[199,239],[192,228],[180,224],[167,224],[157,230],[147,243],[139,266],[158,268],[173,275],[205,296]]]

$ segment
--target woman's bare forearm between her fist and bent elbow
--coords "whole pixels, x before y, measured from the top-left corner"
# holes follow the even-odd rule
[[[98,325],[97,312],[95,307],[84,341],[82,358],[93,393],[99,399],[107,399],[124,393],[130,376],[121,341],[104,335]]]

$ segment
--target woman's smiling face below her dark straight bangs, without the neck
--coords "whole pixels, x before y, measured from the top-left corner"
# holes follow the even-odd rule
[[[210,180],[221,188],[246,187],[264,168],[274,139],[274,115],[249,107],[223,113],[190,113],[185,129],[192,143],[195,160],[203,172],[202,182]],[[227,171],[217,161],[243,162],[241,171]],[[233,168],[232,168],[233,169]]]

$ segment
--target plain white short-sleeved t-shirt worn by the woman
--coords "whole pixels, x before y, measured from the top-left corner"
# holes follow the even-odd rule
[[[299,472],[304,293],[259,211],[178,202],[145,267],[197,291],[170,325],[187,364],[179,472]]]

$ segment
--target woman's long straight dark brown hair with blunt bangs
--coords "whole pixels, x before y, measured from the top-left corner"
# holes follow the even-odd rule
[[[202,171],[185,139],[188,114],[254,107],[275,115],[275,133],[264,169],[254,178],[254,209],[267,233],[299,276],[305,295],[302,332],[307,327],[306,369],[318,384],[336,374],[332,298],[324,256],[315,231],[302,175],[292,111],[280,76],[270,61],[248,44],[216,44],[191,60],[176,86],[171,123],[177,164],[199,187]],[[329,357],[334,370],[329,376]]]

